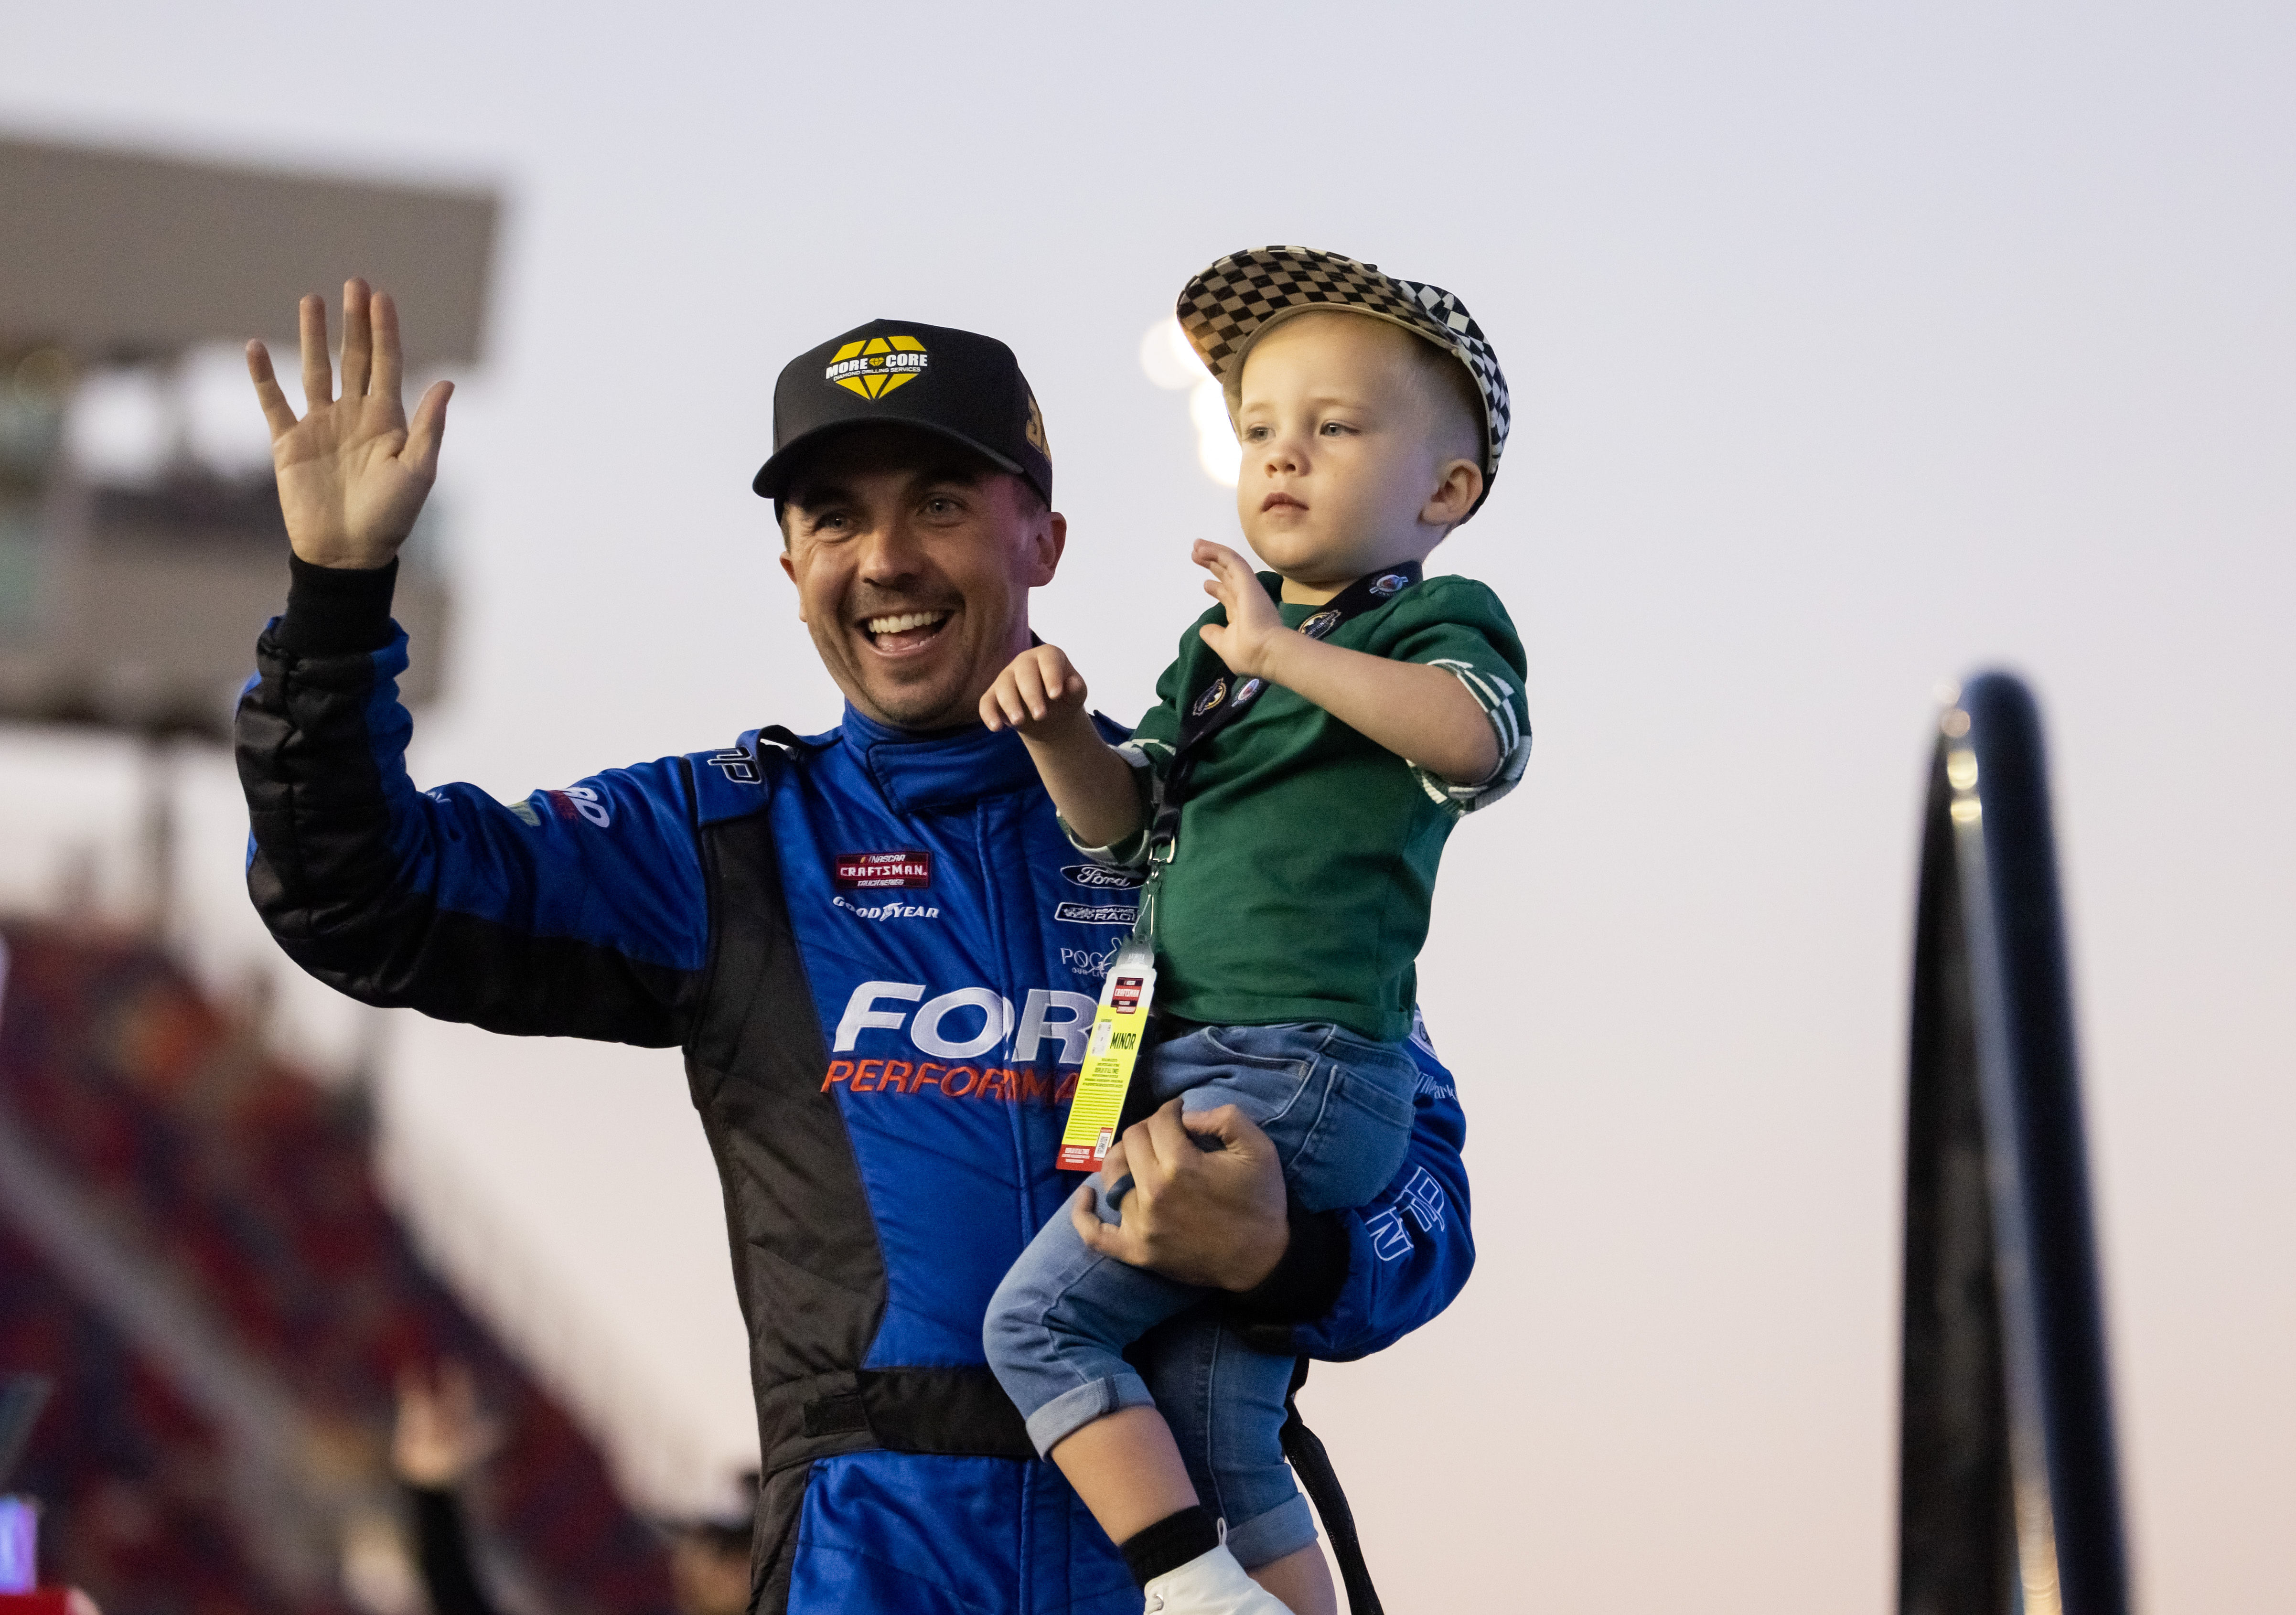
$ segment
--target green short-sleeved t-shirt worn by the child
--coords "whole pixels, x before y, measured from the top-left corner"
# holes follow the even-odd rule
[[[1286,627],[1320,611],[1281,604],[1274,572],[1261,581]],[[1125,747],[1150,818],[1185,703],[1226,673],[1196,627],[1224,620],[1212,606],[1180,636],[1180,659]],[[1499,770],[1453,786],[1290,689],[1261,691],[1196,749],[1157,896],[1157,1006],[1182,1020],[1329,1020],[1366,1038],[1407,1036],[1442,843],[1463,813],[1522,779],[1522,639],[1490,588],[1430,577],[1348,618],[1327,643],[1458,675],[1497,731]],[[1141,843],[1088,850],[1137,861]]]

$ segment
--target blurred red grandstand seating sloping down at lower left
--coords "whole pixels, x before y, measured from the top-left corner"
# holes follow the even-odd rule
[[[14,1489],[106,1615],[416,1615],[393,1381],[468,1362],[473,1500],[517,1615],[670,1608],[599,1452],[416,1259],[356,1091],[266,1054],[161,951],[0,928],[0,1371],[55,1381]]]

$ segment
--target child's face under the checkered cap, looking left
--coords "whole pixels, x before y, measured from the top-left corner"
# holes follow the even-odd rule
[[[1235,515],[1261,561],[1306,588],[1424,558],[1465,505],[1414,338],[1384,319],[1293,315],[1244,358]],[[1453,473],[1453,480],[1456,473]],[[1481,489],[1481,471],[1474,469]],[[1472,496],[1467,505],[1472,505]]]

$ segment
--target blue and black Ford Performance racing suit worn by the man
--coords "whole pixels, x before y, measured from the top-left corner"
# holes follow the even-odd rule
[[[1139,1610],[980,1353],[990,1293],[1077,1183],[1052,1162],[1132,894],[1077,859],[1019,740],[980,728],[847,710],[519,804],[416,790],[390,577],[296,563],[257,646],[248,887],[298,965],[370,1004],[684,1050],[751,1337],[755,1608]],[[1465,1123],[1417,1059],[1394,1185],[1295,1213],[1233,1303],[1279,1349],[1378,1351],[1467,1277]]]

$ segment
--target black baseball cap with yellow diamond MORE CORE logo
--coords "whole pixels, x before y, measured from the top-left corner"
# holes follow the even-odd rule
[[[992,335],[870,319],[781,368],[774,457],[751,482],[781,499],[806,450],[861,425],[905,425],[964,443],[1052,503],[1045,411],[1013,349]]]

